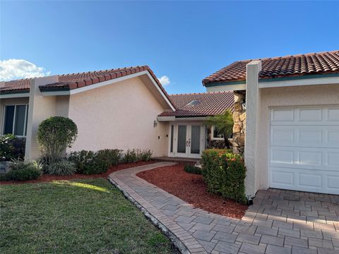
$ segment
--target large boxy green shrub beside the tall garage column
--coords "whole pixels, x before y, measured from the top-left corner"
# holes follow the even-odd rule
[[[245,195],[246,167],[239,155],[227,150],[205,150],[202,155],[203,179],[211,193],[247,203]]]

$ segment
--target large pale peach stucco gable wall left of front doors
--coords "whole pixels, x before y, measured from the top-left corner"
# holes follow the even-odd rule
[[[78,126],[78,138],[67,152],[141,148],[167,155],[167,123],[153,126],[162,111],[140,78],[71,95],[69,118]]]

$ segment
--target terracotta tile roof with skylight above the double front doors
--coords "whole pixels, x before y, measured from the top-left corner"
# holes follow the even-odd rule
[[[159,116],[213,116],[222,114],[225,109],[232,109],[234,104],[233,92],[203,92],[182,95],[169,95],[177,107],[175,112],[162,112]],[[198,101],[194,106],[189,102]]]

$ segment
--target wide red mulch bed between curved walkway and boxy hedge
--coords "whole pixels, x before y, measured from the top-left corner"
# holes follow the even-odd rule
[[[208,212],[241,219],[248,207],[220,195],[208,193],[203,176],[187,173],[182,164],[150,169],[136,175]]]

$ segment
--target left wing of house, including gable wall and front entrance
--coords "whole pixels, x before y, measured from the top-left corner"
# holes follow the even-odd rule
[[[78,126],[66,152],[136,148],[199,158],[208,143],[203,120],[233,107],[233,98],[233,92],[167,95],[148,66],[13,80],[0,83],[0,134],[25,138],[25,157],[36,158],[39,123],[65,116]]]

